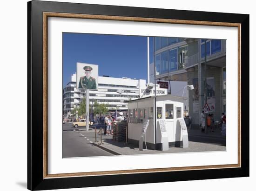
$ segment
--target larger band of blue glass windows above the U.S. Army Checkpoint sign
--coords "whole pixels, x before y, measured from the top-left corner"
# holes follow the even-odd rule
[[[157,54],[155,56],[156,75],[183,69],[187,59],[188,45]]]

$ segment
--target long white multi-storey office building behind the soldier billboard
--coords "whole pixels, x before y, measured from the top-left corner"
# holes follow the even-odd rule
[[[156,85],[157,95],[166,95],[166,89],[159,89]],[[115,78],[108,76],[98,77],[98,90],[89,90],[89,101],[105,103],[109,110],[128,110],[128,100],[152,96],[153,90],[147,89],[146,80],[131,79],[127,77]],[[79,107],[81,100],[86,96],[85,90],[76,89],[76,74],[71,76],[71,82],[63,89],[63,115]]]

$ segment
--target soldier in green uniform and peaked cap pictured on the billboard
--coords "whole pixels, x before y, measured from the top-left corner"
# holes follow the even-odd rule
[[[83,67],[85,70],[85,76],[80,77],[79,89],[97,89],[96,80],[91,76],[93,68],[91,66]]]

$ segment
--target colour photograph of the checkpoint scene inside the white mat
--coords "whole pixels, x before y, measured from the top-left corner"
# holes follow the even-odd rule
[[[62,40],[63,158],[226,151],[226,39]]]

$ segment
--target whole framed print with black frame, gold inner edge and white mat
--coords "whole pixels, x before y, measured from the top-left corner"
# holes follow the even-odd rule
[[[29,190],[249,176],[249,15],[27,5]]]

